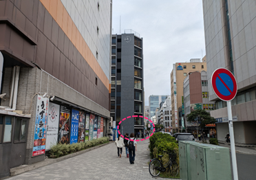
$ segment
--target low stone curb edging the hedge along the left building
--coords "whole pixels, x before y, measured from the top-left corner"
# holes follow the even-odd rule
[[[13,177],[13,176],[15,176],[15,175],[19,175],[19,174],[21,174],[21,173],[23,173],[23,172],[28,172],[28,171],[30,171],[30,170],[34,170],[34,169],[36,169],[36,168],[41,168],[41,167],[43,167],[43,166],[47,166],[47,165],[50,165],[50,164],[54,164],[54,163],[56,163],[56,162],[59,162],[59,161],[63,161],[63,160],[65,160],[65,159],[69,159],[69,158],[71,158],[71,157],[74,157],[74,156],[77,156],[77,155],[81,155],[81,154],[83,154],[83,153],[87,153],[87,152],[89,152],[90,150],[94,150],[94,149],[96,149],[96,148],[100,148],[100,147],[102,147],[102,146],[106,146],[107,144],[111,144],[111,143],[113,143],[113,142],[108,142],[108,143],[105,143],[105,144],[100,144],[100,145],[98,145],[98,146],[94,146],[94,147],[92,147],[92,148],[87,148],[87,149],[85,149],[85,150],[81,150],[81,151],[78,151],[78,152],[76,152],[76,153],[72,153],[72,154],[70,154],[70,155],[65,155],[65,156],[63,156],[63,157],[58,157],[58,158],[56,158],[56,159],[45,159],[44,161],[41,161],[41,162],[38,162],[38,163],[35,163],[35,164],[30,164],[30,165],[22,165],[22,166],[19,166],[19,167],[16,167],[16,168],[11,168],[10,169],[10,177]]]

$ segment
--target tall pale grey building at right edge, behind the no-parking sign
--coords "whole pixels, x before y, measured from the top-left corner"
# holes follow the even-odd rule
[[[256,144],[256,37],[255,1],[203,0],[207,78],[211,87],[213,71],[224,67],[237,80],[237,95],[231,101],[235,143]],[[217,139],[228,133],[226,102],[209,88],[209,100],[215,101]]]

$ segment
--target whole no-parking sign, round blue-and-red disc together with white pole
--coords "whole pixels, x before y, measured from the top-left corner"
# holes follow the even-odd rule
[[[211,85],[213,86],[213,91],[221,100],[226,101],[226,107],[228,110],[228,128],[229,135],[231,139],[231,157],[233,166],[233,178],[238,180],[237,174],[237,158],[235,155],[235,138],[232,120],[232,109],[231,100],[237,95],[237,81],[235,76],[225,68],[216,69],[211,76]]]

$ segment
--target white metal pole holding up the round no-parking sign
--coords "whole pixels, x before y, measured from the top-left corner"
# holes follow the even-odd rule
[[[231,101],[227,101],[227,109],[228,109],[228,128],[229,135],[231,137],[231,157],[232,157],[232,166],[233,166],[233,177],[234,180],[238,180],[237,174],[237,158],[235,155],[235,138],[234,138],[234,130],[233,130],[233,118],[232,118],[232,109],[231,109]]]

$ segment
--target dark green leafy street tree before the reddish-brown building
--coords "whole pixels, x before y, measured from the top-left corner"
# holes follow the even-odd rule
[[[200,127],[202,129],[206,126],[206,124],[215,124],[215,122],[217,122],[213,117],[211,117],[210,113],[203,109],[191,111],[191,113],[186,116],[186,120],[188,122],[194,122],[198,117],[200,117],[200,120],[198,121],[200,122]]]

